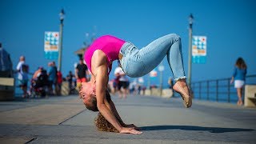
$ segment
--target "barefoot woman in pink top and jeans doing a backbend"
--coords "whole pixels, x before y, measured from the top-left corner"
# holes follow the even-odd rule
[[[110,35],[96,39],[84,56],[91,78],[90,82],[82,83],[79,94],[86,108],[99,111],[119,133],[141,134],[142,132],[133,124],[126,125],[122,122],[114,102],[106,98],[112,62],[118,60],[128,76],[138,78],[158,66],[165,56],[174,74],[173,89],[181,95],[184,106],[190,107],[192,99],[183,68],[181,38],[177,34],[168,34],[154,40],[141,50],[131,42]]]

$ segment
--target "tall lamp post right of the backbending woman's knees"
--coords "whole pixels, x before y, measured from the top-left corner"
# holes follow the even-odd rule
[[[190,22],[190,29],[189,29],[189,63],[188,63],[188,85],[191,84],[191,68],[192,68],[192,62],[191,62],[191,56],[192,56],[192,25],[193,25],[193,15],[190,14],[189,22]]]

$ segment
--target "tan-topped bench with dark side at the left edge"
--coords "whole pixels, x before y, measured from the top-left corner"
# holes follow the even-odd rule
[[[14,100],[14,78],[0,78],[0,101]]]

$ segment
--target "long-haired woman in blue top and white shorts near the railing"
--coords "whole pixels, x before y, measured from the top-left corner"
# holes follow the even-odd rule
[[[234,72],[230,83],[234,82],[234,88],[237,89],[238,93],[238,106],[242,106],[242,88],[246,82],[247,66],[246,62],[242,58],[238,58],[234,65]]]

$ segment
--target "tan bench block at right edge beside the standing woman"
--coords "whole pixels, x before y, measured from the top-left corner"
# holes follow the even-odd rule
[[[256,85],[245,86],[245,106],[256,107]]]

